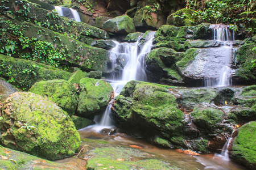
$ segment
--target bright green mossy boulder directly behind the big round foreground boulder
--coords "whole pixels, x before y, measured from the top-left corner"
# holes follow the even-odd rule
[[[76,113],[77,108],[77,89],[67,80],[48,80],[34,84],[29,90],[34,94],[43,96],[56,103],[66,111],[69,116]]]

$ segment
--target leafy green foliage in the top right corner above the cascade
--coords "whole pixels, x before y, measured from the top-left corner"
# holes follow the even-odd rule
[[[255,1],[252,0],[186,0],[186,8],[195,10],[197,23],[232,24],[235,31],[256,32],[249,25],[255,16]],[[227,12],[229,11],[229,12]]]

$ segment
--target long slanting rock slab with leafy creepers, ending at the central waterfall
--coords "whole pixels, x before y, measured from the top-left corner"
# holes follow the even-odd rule
[[[87,45],[31,23],[17,22],[4,17],[1,20],[0,27],[5,28],[5,33],[15,35],[16,44],[22,44],[16,46],[17,49],[13,52],[15,57],[23,56],[52,65],[58,61],[64,65],[79,66],[85,71],[106,69],[104,63],[108,61],[109,53],[105,49]],[[26,48],[23,50],[24,46]],[[20,52],[23,51],[22,55]]]

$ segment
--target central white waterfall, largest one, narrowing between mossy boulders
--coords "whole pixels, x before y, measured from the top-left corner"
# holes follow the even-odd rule
[[[152,41],[154,39],[154,33],[150,35],[150,39],[148,39],[142,46],[140,47],[139,40],[137,42],[128,43],[123,42],[119,43],[115,41],[116,46],[110,51],[110,59],[112,61],[112,67],[115,65],[116,57],[121,54],[123,56],[123,60],[127,60],[125,67],[123,68],[122,77],[119,80],[116,80],[116,77],[112,77],[112,79],[108,79],[110,84],[112,85],[115,96],[119,95],[122,88],[125,86],[127,82],[130,80],[141,80],[146,81],[147,76],[144,70],[144,56],[150,52]],[[106,108],[106,111],[101,119],[100,126],[111,126],[111,119],[109,114],[111,113],[111,105]]]

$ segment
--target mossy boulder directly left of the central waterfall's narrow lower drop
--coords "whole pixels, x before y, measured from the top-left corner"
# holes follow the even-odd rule
[[[105,80],[82,78],[79,82],[79,104],[77,114],[92,117],[106,109],[114,96],[112,86]]]

